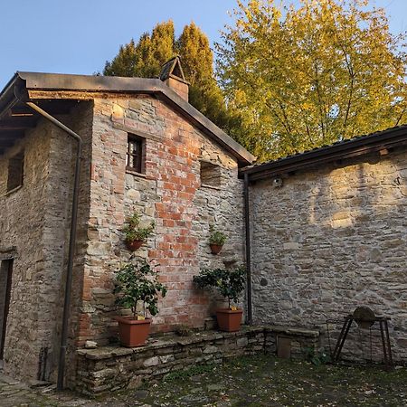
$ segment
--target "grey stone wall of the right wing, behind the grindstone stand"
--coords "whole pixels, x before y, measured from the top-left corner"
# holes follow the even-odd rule
[[[327,319],[342,323],[364,305],[392,317],[393,357],[405,362],[406,184],[399,151],[298,172],[280,188],[271,179],[251,186],[255,322],[324,332]],[[330,326],[335,339],[339,326]],[[350,337],[345,357],[369,359],[369,331],[354,327]],[[377,325],[373,354],[382,355]]]

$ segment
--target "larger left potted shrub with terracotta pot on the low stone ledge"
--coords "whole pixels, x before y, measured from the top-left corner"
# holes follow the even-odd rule
[[[141,265],[123,265],[116,275],[113,292],[118,296],[116,304],[130,308],[131,317],[118,317],[118,335],[122,345],[128,347],[143,345],[150,331],[151,318],[158,313],[158,294],[166,297],[166,286],[157,280],[157,273],[147,261]],[[143,301],[143,313],[137,315],[137,301]]]

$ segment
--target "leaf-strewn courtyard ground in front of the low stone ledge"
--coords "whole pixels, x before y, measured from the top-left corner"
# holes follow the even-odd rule
[[[11,406],[407,406],[407,368],[349,366],[259,355],[223,365],[193,366],[137,390],[86,399],[30,388],[0,375],[0,405]]]

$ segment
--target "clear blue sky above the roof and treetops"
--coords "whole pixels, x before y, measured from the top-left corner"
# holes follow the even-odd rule
[[[407,29],[406,0],[376,0],[393,33]],[[173,19],[180,33],[194,21],[219,41],[236,0],[0,0],[0,89],[15,71],[92,74],[118,46]]]

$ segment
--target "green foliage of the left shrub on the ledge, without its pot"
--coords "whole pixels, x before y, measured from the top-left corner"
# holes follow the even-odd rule
[[[151,315],[158,313],[158,294],[166,297],[166,286],[157,280],[157,273],[147,261],[143,263],[128,263],[123,265],[116,275],[113,292],[118,296],[116,304],[130,308],[133,317],[137,317],[137,301],[143,301],[144,317],[146,309]]]

